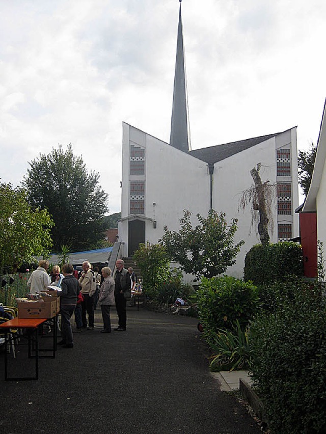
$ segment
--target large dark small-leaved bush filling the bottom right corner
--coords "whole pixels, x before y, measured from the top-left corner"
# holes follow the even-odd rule
[[[326,308],[320,289],[298,287],[251,324],[251,372],[272,432],[324,432]]]

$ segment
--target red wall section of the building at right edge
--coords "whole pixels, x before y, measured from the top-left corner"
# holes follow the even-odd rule
[[[317,218],[315,212],[301,212],[300,236],[304,257],[304,274],[317,277]]]

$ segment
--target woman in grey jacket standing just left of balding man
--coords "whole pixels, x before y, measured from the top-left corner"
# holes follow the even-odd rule
[[[111,276],[112,270],[110,267],[103,267],[101,273],[104,278],[98,296],[98,304],[101,306],[103,318],[103,330],[101,330],[101,333],[111,333],[110,308],[115,305],[115,281]]]

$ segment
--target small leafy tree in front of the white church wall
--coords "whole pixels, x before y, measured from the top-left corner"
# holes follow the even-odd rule
[[[195,275],[196,280],[224,273],[235,263],[235,257],[244,243],[240,241],[233,246],[237,219],[233,219],[228,226],[224,212],[218,213],[210,209],[206,219],[197,214],[199,225],[193,228],[192,213],[188,210],[183,212],[180,231],[169,231],[165,227],[160,239],[169,258],[179,262],[185,273]]]

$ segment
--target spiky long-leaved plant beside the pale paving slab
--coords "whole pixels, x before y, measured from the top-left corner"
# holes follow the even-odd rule
[[[242,331],[239,321],[235,321],[233,331],[218,329],[218,333],[207,337],[212,349],[209,368],[211,371],[248,369],[250,347],[248,329]]]

